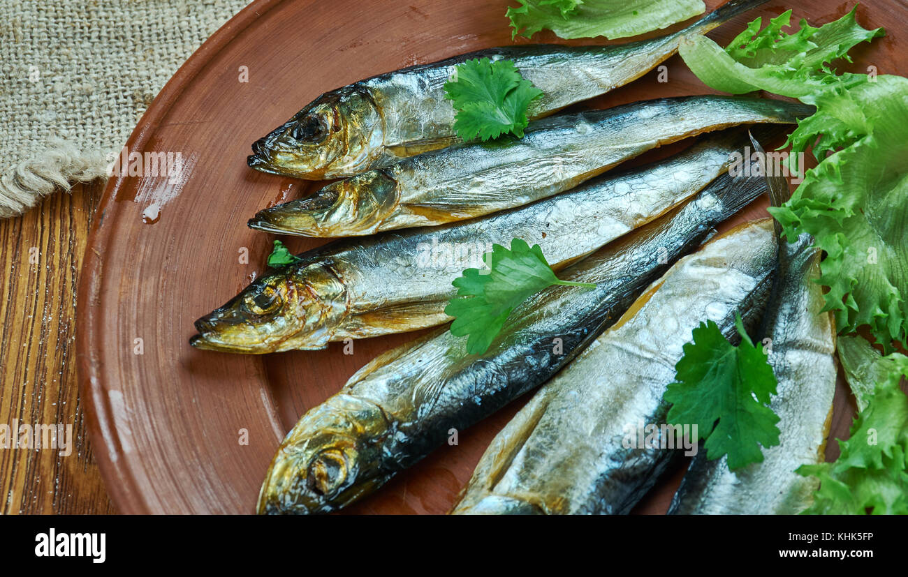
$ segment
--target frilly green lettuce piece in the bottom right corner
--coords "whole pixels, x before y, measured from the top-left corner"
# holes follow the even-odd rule
[[[851,437],[839,440],[835,463],[798,467],[798,474],[820,480],[804,513],[908,514],[908,396],[899,387],[908,365],[891,367],[897,368],[877,381]]]

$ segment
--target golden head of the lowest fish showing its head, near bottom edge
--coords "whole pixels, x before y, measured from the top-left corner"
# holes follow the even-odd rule
[[[259,493],[261,514],[329,513],[370,493],[390,435],[380,406],[343,393],[303,416],[271,461]]]

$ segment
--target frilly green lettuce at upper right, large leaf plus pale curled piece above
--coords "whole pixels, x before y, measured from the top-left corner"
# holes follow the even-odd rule
[[[856,9],[856,7],[855,7]],[[818,165],[783,206],[769,212],[795,240],[804,232],[824,249],[824,310],[843,333],[867,326],[888,351],[908,344],[908,79],[836,74],[855,44],[882,35],[857,24],[855,10],[818,28],[791,11],[761,30],[756,19],[725,49],[700,36],[679,53],[704,83],[729,93],[765,90],[814,104],[787,144],[791,159],[813,146]],[[794,167],[793,167],[794,168]],[[803,171],[803,167],[800,167]]]

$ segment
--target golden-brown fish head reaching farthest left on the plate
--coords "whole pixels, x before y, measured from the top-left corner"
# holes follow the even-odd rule
[[[272,353],[324,348],[346,309],[342,279],[326,263],[292,266],[256,280],[195,321],[196,348]]]

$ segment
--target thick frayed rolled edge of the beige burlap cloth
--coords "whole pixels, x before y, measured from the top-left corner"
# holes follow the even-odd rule
[[[55,191],[76,182],[107,179],[102,152],[83,152],[73,142],[53,139],[43,153],[0,175],[0,218],[15,217]]]

